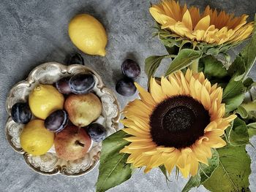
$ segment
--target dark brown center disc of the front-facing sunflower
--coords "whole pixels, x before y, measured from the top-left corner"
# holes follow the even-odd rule
[[[173,96],[157,105],[151,114],[151,137],[158,146],[189,147],[203,136],[210,123],[203,104],[190,96]]]

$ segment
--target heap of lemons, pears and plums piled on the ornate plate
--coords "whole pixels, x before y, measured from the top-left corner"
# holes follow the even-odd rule
[[[72,161],[86,155],[91,139],[105,139],[105,127],[93,123],[102,113],[94,85],[94,75],[75,74],[55,85],[39,84],[29,94],[29,103],[14,104],[12,119],[26,124],[20,134],[23,150],[43,155],[54,144],[59,158]],[[36,118],[31,120],[33,115]]]

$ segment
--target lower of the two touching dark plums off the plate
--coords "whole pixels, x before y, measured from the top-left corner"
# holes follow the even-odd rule
[[[132,79],[124,78],[116,83],[116,92],[122,96],[132,96],[136,90],[137,88]]]

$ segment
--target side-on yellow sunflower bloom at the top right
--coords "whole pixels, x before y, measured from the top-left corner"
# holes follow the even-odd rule
[[[222,45],[241,42],[252,34],[253,23],[246,23],[248,15],[234,17],[224,11],[206,7],[200,13],[197,7],[181,7],[174,0],[165,0],[149,9],[162,29],[172,31],[177,37],[192,42]]]

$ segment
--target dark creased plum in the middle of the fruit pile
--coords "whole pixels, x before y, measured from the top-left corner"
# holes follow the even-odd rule
[[[56,110],[45,119],[45,128],[47,128],[48,131],[58,133],[67,126],[67,122],[67,112],[64,110]]]

